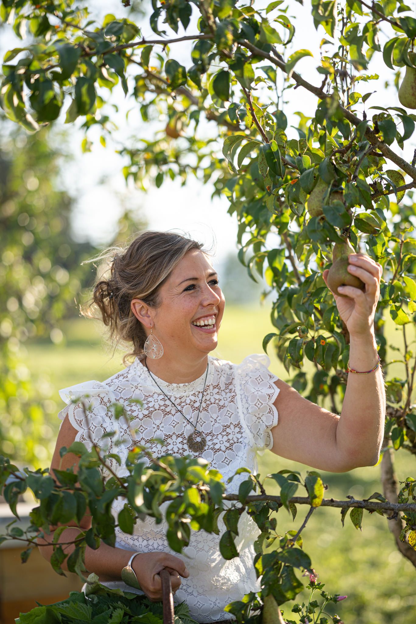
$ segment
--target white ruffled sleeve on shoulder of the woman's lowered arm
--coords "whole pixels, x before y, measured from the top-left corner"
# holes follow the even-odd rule
[[[77,430],[75,441],[83,442],[90,451],[93,444],[107,448],[111,446],[111,437],[102,440],[105,433],[117,429],[115,426],[112,403],[116,397],[109,386],[100,381],[84,381],[75,386],[62,388],[59,396],[67,405],[59,412],[58,417],[63,421],[68,414],[69,422]],[[85,412],[81,401],[85,404]]]

